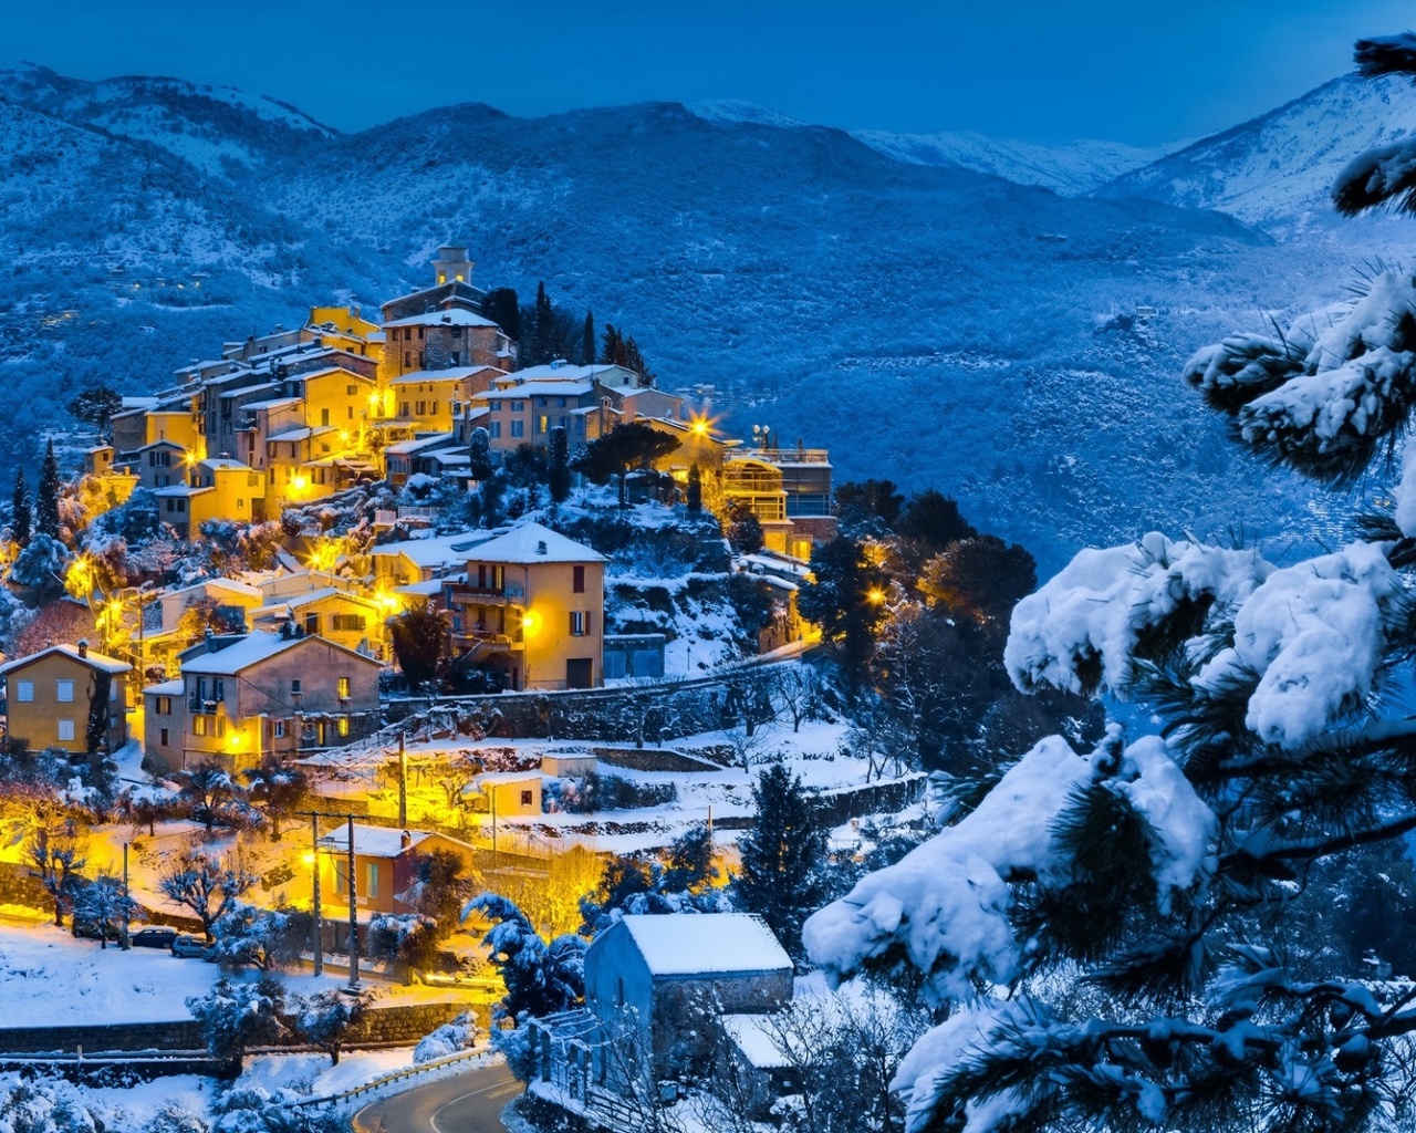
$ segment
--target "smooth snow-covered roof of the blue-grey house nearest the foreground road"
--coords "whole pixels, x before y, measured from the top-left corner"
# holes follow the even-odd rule
[[[766,922],[745,912],[629,915],[620,923],[651,976],[792,970],[792,957]]]

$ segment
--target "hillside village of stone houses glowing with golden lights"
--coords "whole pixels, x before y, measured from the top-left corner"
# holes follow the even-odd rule
[[[923,786],[811,657],[799,595],[837,530],[830,459],[735,439],[711,391],[622,364],[518,367],[466,249],[430,266],[377,320],[313,307],[109,398],[99,443],[51,439],[33,496],[17,477],[4,909],[101,952],[347,976],[379,1020],[344,1018],[351,1042],[463,1015],[486,1041],[517,1021],[517,926],[579,952],[646,913],[697,913],[698,949],[758,940],[787,984],[758,1007],[780,1008],[792,960],[724,888],[765,792],[816,800],[810,855],[844,823],[848,862],[869,846],[851,824]],[[726,994],[719,970],[701,993]],[[619,1032],[623,1003],[582,996],[532,1013],[561,1054],[525,1074],[552,1105],[613,1109],[605,1066],[598,1102],[548,1085],[586,1027]],[[266,1014],[313,1010],[296,1000]],[[74,1010],[58,1021],[102,1044]]]

